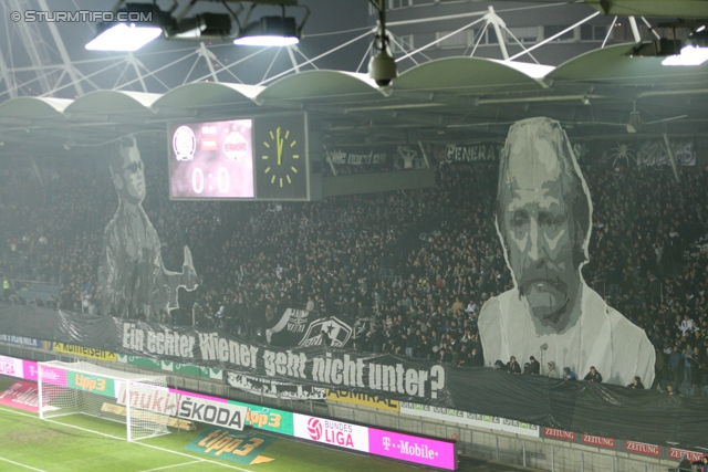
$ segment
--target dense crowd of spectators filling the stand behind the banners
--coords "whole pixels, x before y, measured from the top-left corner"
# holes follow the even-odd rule
[[[260,337],[287,307],[306,308],[356,319],[357,349],[482,365],[477,315],[512,284],[493,224],[494,162],[444,165],[431,189],[275,203],[170,201],[163,159],[144,160],[165,266],[179,271],[187,244],[202,280],[164,322],[191,324],[196,313]],[[582,168],[594,207],[585,280],[646,331],[653,387],[708,390],[708,252],[694,244],[708,233],[708,171],[683,169],[677,183],[666,167]],[[61,285],[52,305],[101,313],[97,268],[116,204],[98,159],[3,167],[0,272]]]

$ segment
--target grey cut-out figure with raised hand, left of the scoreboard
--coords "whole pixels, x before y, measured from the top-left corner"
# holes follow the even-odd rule
[[[104,230],[98,269],[98,297],[105,315],[160,321],[179,307],[177,291],[197,289],[191,252],[184,248],[181,272],[163,264],[157,231],[143,209],[146,195],[143,159],[133,136],[122,138],[108,154],[118,209]]]

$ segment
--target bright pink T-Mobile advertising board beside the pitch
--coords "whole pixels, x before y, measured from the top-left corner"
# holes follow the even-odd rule
[[[368,452],[437,469],[455,470],[457,465],[454,442],[383,431],[375,428],[368,429]]]

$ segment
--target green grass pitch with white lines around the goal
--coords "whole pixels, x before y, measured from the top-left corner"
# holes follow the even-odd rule
[[[0,391],[15,379],[0,377]],[[272,462],[242,465],[188,452],[204,432],[127,442],[125,424],[83,415],[42,421],[38,415],[0,407],[0,471],[35,472],[403,472],[421,468],[379,460],[274,434],[262,452]],[[259,434],[261,431],[258,431]],[[267,434],[267,433],[263,433]]]

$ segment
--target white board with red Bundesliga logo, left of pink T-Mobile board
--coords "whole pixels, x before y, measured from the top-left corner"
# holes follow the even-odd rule
[[[294,436],[339,448],[368,452],[368,428],[293,413]]]

